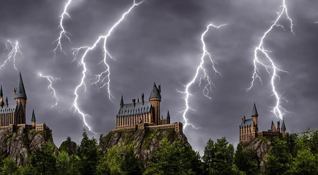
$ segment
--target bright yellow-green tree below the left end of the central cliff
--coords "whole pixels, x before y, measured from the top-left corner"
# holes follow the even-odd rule
[[[119,155],[118,147],[109,148],[104,156],[98,161],[96,174],[107,175],[126,175],[121,169],[124,158]]]

